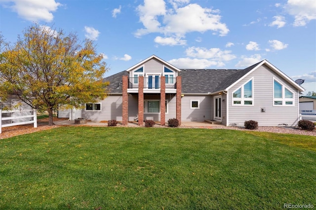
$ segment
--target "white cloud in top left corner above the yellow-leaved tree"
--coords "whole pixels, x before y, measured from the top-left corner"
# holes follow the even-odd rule
[[[52,12],[55,12],[62,5],[55,0],[4,0],[4,2],[12,2],[13,5],[9,7],[23,19],[46,22],[53,20]]]

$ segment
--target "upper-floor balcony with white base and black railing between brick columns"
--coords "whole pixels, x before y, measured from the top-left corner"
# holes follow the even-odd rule
[[[161,77],[158,75],[144,77],[144,92],[148,93],[159,93],[161,89]],[[166,93],[176,93],[177,78],[165,78],[165,91]],[[128,78],[128,92],[137,93],[139,87],[138,77]]]

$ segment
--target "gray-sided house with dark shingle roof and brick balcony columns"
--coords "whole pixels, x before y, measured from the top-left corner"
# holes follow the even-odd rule
[[[243,70],[178,69],[153,55],[131,68],[104,78],[108,97],[88,103],[81,117],[90,120],[169,118],[214,120],[223,125],[295,126],[304,88],[263,60]]]

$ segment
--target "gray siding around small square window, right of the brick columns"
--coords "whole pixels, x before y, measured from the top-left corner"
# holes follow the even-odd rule
[[[191,100],[199,100],[199,109],[191,109]],[[181,99],[181,120],[202,122],[213,119],[212,100],[211,96],[185,95]]]

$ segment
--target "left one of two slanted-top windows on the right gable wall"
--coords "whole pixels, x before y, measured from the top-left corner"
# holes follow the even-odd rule
[[[253,105],[253,78],[233,92],[233,105]]]

